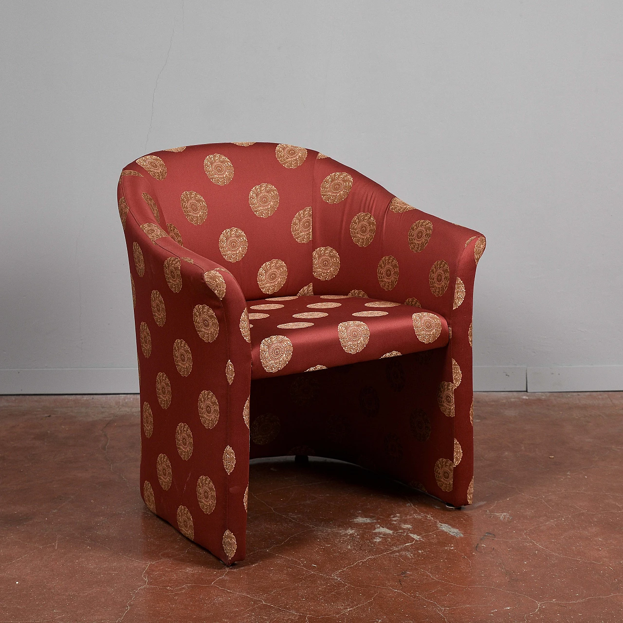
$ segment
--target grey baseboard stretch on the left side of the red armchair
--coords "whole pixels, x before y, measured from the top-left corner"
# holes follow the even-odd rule
[[[138,368],[0,369],[0,394],[138,394]]]

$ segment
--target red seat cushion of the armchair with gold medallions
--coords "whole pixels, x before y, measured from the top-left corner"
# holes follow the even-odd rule
[[[323,295],[247,301],[252,378],[296,374],[439,348],[439,314],[376,298]]]

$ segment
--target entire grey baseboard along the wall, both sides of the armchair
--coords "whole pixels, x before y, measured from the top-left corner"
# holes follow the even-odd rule
[[[474,391],[623,391],[623,366],[475,366]],[[138,394],[136,368],[0,369],[0,394]]]

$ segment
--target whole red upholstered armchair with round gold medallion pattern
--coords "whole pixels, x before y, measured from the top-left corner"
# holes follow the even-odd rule
[[[249,458],[333,457],[472,502],[482,235],[273,143],[143,156],[118,203],[150,510],[231,564]]]

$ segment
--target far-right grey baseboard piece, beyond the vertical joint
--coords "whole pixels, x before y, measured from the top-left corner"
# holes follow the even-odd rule
[[[528,368],[528,391],[623,391],[623,366]]]

